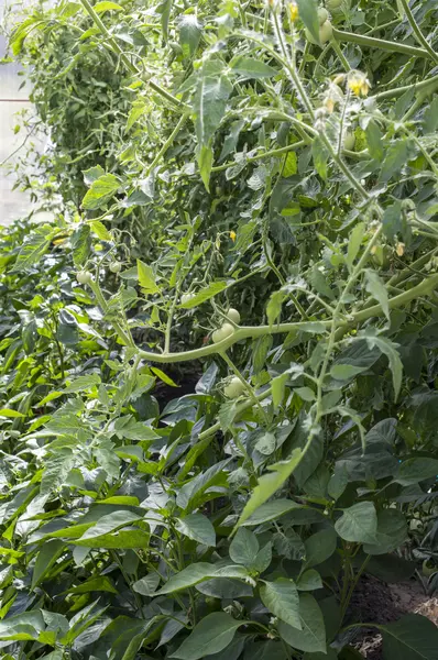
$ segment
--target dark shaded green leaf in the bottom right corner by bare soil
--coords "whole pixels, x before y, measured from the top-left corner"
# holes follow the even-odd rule
[[[438,628],[425,616],[407,614],[379,629],[383,637],[383,660],[437,660]]]

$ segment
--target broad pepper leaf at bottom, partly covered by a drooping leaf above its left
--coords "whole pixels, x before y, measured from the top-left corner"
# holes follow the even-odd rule
[[[299,594],[299,620],[302,629],[278,622],[280,636],[294,649],[326,652],[326,627],[322,612],[310,594]]]

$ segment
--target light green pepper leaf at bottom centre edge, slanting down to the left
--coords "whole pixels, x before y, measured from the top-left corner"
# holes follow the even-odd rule
[[[219,653],[228,647],[236,630],[244,624],[244,620],[237,622],[225,612],[208,614],[169,657],[180,660],[200,660],[207,654]]]

